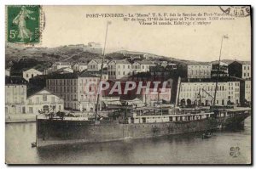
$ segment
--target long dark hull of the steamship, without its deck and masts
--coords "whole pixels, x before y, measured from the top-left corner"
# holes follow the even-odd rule
[[[154,138],[219,127],[243,125],[247,115],[219,117],[195,121],[119,124],[118,121],[66,121],[37,119],[37,146],[52,144],[100,143],[125,139]]]

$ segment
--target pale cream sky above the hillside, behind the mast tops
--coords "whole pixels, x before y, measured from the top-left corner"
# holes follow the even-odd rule
[[[86,14],[148,14],[219,13],[215,7],[179,6],[44,6],[45,27],[43,47],[69,44],[104,43],[106,23],[108,48],[125,48],[159,54],[177,59],[197,61],[217,60],[221,39],[224,39],[221,59],[251,59],[250,17],[212,21],[210,25],[139,25],[123,18],[88,18]]]

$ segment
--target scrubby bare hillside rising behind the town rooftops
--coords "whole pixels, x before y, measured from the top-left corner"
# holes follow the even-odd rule
[[[168,61],[177,65],[186,65],[195,63],[193,60],[176,59],[174,57],[160,56],[156,54],[148,54],[144,52],[118,50],[116,52],[106,54],[106,59],[140,59],[148,61]],[[99,59],[102,57],[102,48],[90,48],[84,44],[67,45],[56,48],[35,48],[35,47],[21,47],[17,44],[7,44],[5,52],[6,67],[19,63],[20,60],[26,63],[26,68],[31,66],[45,65],[46,67],[52,65],[56,61],[67,61],[70,63],[88,62],[90,59]],[[36,61],[35,61],[36,60]],[[224,60],[231,62],[232,60]],[[47,64],[46,64],[47,63]],[[36,64],[36,65],[33,65]],[[20,66],[20,65],[19,65]],[[17,67],[19,67],[17,66]]]

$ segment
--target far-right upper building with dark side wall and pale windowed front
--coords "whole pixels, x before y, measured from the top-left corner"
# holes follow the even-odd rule
[[[251,62],[250,61],[234,61],[229,65],[230,76],[236,76],[242,79],[251,78]]]

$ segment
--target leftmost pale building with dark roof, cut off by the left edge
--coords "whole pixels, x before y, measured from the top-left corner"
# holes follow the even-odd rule
[[[20,77],[5,78],[5,113],[26,113],[26,80]]]

